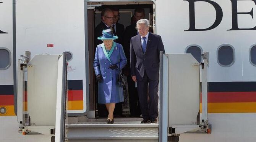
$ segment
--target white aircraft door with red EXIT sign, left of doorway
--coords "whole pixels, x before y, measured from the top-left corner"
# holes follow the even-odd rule
[[[45,0],[44,3],[16,2],[16,60],[25,51],[31,52],[31,58],[37,54],[66,52],[68,113],[74,115],[85,115],[87,110],[87,14],[85,15],[84,3],[52,0]]]

